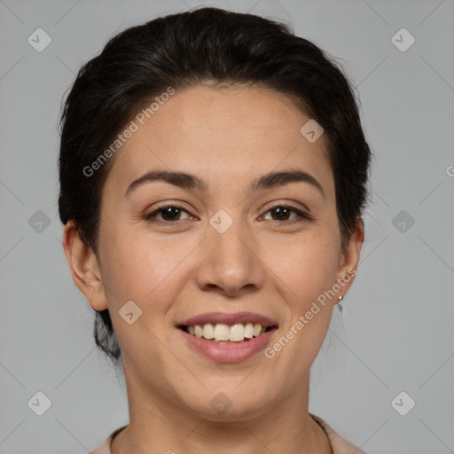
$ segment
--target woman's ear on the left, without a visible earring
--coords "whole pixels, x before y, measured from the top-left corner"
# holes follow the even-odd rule
[[[73,221],[68,221],[63,230],[63,248],[74,283],[85,295],[90,306],[95,310],[107,309],[96,254],[82,241]]]

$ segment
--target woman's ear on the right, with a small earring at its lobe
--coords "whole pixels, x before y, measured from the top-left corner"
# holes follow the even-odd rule
[[[348,244],[340,254],[339,269],[337,271],[337,282],[340,284],[339,295],[342,297],[347,294],[348,289],[353,284],[359,262],[359,254],[364,242],[364,226],[361,217],[356,218],[355,229],[352,231]],[[336,303],[339,300],[335,301]]]

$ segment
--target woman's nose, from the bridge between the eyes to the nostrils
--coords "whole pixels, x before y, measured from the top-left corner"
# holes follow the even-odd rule
[[[262,288],[266,267],[247,225],[236,221],[223,233],[211,225],[207,229],[196,270],[200,289],[238,298]]]

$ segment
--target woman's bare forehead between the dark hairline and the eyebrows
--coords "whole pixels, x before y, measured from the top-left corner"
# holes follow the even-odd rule
[[[184,171],[217,184],[246,184],[279,167],[302,168],[328,186],[331,166],[325,137],[310,143],[301,127],[310,120],[285,95],[258,88],[197,86],[176,90],[127,139],[106,181],[125,191],[151,169]],[[106,188],[105,188],[106,190]]]

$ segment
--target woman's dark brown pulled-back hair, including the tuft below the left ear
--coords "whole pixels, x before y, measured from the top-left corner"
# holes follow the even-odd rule
[[[371,157],[348,78],[324,51],[285,24],[217,8],[130,27],[80,69],[60,121],[61,222],[73,220],[97,254],[101,191],[114,157],[92,175],[86,169],[153,97],[168,87],[207,83],[277,90],[325,129],[342,245],[347,244],[357,220],[362,222]],[[108,309],[97,311],[94,335],[116,364],[121,348]]]

